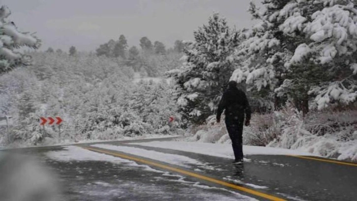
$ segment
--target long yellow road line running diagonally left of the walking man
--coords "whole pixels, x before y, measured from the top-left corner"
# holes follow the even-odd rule
[[[208,176],[204,176],[204,175],[201,175],[201,174],[198,174],[198,173],[195,173],[195,172],[186,171],[186,170],[179,169],[179,168],[176,168],[176,167],[166,166],[166,165],[163,165],[163,164],[159,164],[159,163],[152,162],[152,161],[145,160],[145,159],[136,158],[136,157],[133,157],[133,156],[128,156],[128,155],[125,155],[125,154],[120,154],[120,153],[117,153],[117,152],[112,152],[112,151],[107,151],[107,150],[102,150],[102,149],[96,149],[96,148],[93,148],[93,147],[84,147],[84,146],[81,146],[81,147],[85,148],[85,149],[88,149],[90,151],[96,151],[96,152],[99,152],[99,153],[104,153],[104,154],[120,157],[120,158],[123,158],[123,159],[128,159],[128,160],[136,161],[136,162],[139,162],[139,163],[143,163],[143,164],[147,164],[147,165],[156,166],[156,167],[160,167],[160,168],[163,168],[163,169],[168,169],[168,170],[171,170],[171,171],[179,172],[181,174],[185,174],[185,175],[189,175],[189,176],[192,176],[192,177],[196,177],[196,178],[199,178],[199,179],[202,179],[202,180],[205,180],[205,181],[209,181],[209,182],[212,182],[212,183],[215,183],[215,184],[220,184],[222,186],[226,186],[226,187],[230,187],[230,188],[233,188],[233,189],[237,189],[239,191],[243,191],[245,193],[249,193],[249,194],[261,197],[261,198],[265,198],[265,199],[268,199],[270,201],[286,201],[284,199],[277,198],[275,196],[271,196],[271,195],[268,195],[268,194],[265,194],[265,193],[262,193],[262,192],[259,192],[259,191],[255,191],[255,190],[248,189],[248,188],[245,188],[245,187],[241,187],[241,186],[238,186],[238,185],[235,185],[235,184],[232,184],[232,183],[228,183],[228,182],[225,182],[225,181],[214,179],[214,178],[211,178],[211,177],[208,177]]]

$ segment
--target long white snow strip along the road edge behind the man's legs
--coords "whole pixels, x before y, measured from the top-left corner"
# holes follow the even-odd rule
[[[151,142],[135,142],[129,143],[134,145],[157,147],[164,149],[174,149],[178,151],[187,151],[197,154],[205,154],[222,158],[233,159],[233,151],[231,144],[214,144],[203,142],[181,142],[181,141],[151,141]],[[316,156],[314,154],[283,148],[261,147],[261,146],[243,146],[244,155],[300,155],[300,156]]]

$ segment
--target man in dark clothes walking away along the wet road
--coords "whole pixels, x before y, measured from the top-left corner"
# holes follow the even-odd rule
[[[216,121],[221,121],[221,114],[225,110],[225,122],[235,156],[234,163],[243,162],[243,123],[245,114],[245,126],[249,126],[251,110],[245,93],[237,88],[236,81],[230,81],[228,89],[218,104]]]

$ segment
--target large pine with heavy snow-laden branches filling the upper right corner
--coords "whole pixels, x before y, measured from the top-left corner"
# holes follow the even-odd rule
[[[288,95],[304,113],[357,97],[357,9],[353,0],[264,0],[259,23],[238,48],[245,58],[231,79]]]

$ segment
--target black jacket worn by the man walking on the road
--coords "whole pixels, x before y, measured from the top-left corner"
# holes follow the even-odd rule
[[[245,93],[239,90],[236,86],[230,86],[223,93],[222,99],[218,104],[217,120],[221,119],[221,114],[225,110],[226,120],[237,121],[244,119],[250,120],[251,110]]]

